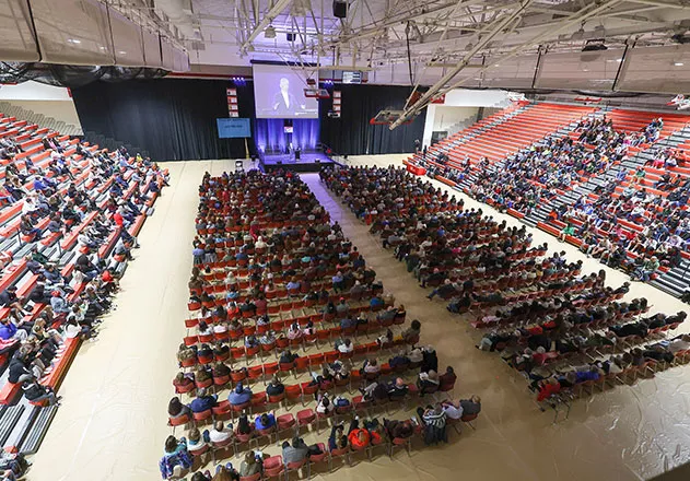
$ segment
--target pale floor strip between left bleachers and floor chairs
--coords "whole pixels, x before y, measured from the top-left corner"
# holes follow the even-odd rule
[[[185,335],[190,245],[204,171],[234,162],[165,164],[171,187],[147,220],[95,342],[82,345],[60,388],[62,407],[35,456],[31,480],[155,480],[169,434],[167,402]]]

